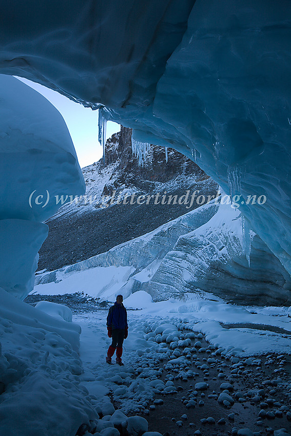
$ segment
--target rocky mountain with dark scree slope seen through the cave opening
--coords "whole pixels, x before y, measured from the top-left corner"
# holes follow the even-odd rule
[[[101,158],[82,169],[86,195],[65,204],[47,221],[49,235],[40,250],[38,269],[88,259],[199,207],[202,203],[179,201],[187,192],[216,195],[217,184],[171,148],[166,162],[165,148],[151,145],[140,167],[132,154],[131,133],[121,126],[106,142],[105,166]],[[138,203],[139,195],[149,201]]]

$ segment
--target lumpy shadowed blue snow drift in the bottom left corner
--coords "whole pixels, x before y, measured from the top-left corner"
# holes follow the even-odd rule
[[[2,434],[75,434],[98,417],[79,379],[80,326],[0,296]]]

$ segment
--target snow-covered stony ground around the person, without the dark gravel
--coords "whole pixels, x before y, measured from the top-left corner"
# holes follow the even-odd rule
[[[210,297],[211,295],[209,295]],[[174,299],[167,302],[153,303],[149,294],[140,291],[130,295],[124,301],[124,305],[128,308],[129,335],[124,342],[123,361],[125,365],[121,368],[118,365],[108,366],[105,364],[105,356],[111,343],[106,331],[107,312],[100,311],[98,313],[74,315],[74,321],[82,327],[80,347],[80,356],[84,368],[84,373],[81,375],[82,385],[86,386],[90,394],[95,395],[96,401],[98,401],[98,411],[101,411],[103,415],[107,412],[111,415],[114,411],[107,396],[109,394],[114,406],[119,407],[126,415],[142,413],[148,418],[152,411],[159,408],[159,405],[164,402],[167,403],[167,395],[178,393],[181,386],[180,389],[177,388],[177,382],[181,383],[181,381],[191,382],[192,385],[189,385],[189,387],[195,385],[195,388],[192,389],[192,392],[194,392],[192,398],[189,397],[188,400],[184,400],[186,409],[189,410],[191,407],[195,407],[199,401],[200,403],[202,401],[204,405],[205,395],[201,394],[201,391],[209,388],[206,381],[208,380],[207,377],[211,380],[211,373],[209,376],[208,371],[211,372],[211,369],[216,369],[216,366],[219,367],[219,362],[224,362],[225,359],[226,362],[230,361],[232,366],[229,367],[229,373],[227,373],[227,365],[222,363],[225,374],[224,371],[221,371],[223,374],[218,375],[218,381],[220,380],[220,390],[224,389],[225,398],[229,400],[227,395],[230,395],[232,399],[229,400],[230,404],[224,403],[226,409],[231,409],[230,406],[239,399],[239,402],[243,404],[246,401],[251,402],[251,398],[242,400],[243,394],[241,391],[238,391],[238,388],[234,389],[234,386],[232,386],[235,385],[234,379],[237,377],[245,379],[243,375],[251,379],[251,369],[253,367],[260,372],[260,367],[269,368],[268,365],[271,366],[275,363],[275,369],[271,370],[271,380],[264,382],[263,380],[266,380],[267,377],[264,379],[263,376],[262,383],[265,383],[266,387],[268,384],[270,386],[281,386],[287,394],[289,401],[287,406],[287,403],[283,400],[280,404],[277,403],[276,407],[274,406],[275,409],[281,408],[282,413],[286,409],[284,418],[286,421],[287,417],[287,425],[285,422],[285,427],[280,427],[279,423],[276,423],[277,426],[274,429],[279,431],[280,428],[285,428],[286,432],[282,430],[275,434],[282,436],[288,434],[287,429],[291,429],[289,423],[291,419],[291,379],[287,378],[286,382],[286,378],[285,380],[283,380],[284,377],[283,379],[280,378],[286,370],[286,365],[284,366],[286,361],[283,361],[283,359],[285,355],[291,355],[291,324],[290,318],[287,316],[287,308],[243,308],[228,305],[221,301],[197,298],[191,294],[188,294],[187,298],[188,300],[184,303]],[[222,324],[227,324],[229,327],[231,324],[238,323],[241,324],[241,327],[224,328],[222,326]],[[264,328],[266,330],[263,330]],[[277,330],[277,332],[273,330]],[[275,355],[277,355],[278,362],[276,362]],[[205,359],[205,356],[208,359]],[[278,358],[278,356],[280,357]],[[264,365],[262,365],[262,357],[263,359],[266,358]],[[279,366],[276,366],[276,364],[279,364]],[[196,372],[198,369],[203,369],[204,373]],[[173,374],[171,371],[175,373]],[[213,378],[212,380],[217,379]],[[228,380],[232,385],[225,383]],[[243,380],[242,383],[244,383]],[[251,383],[253,383],[254,389],[252,392],[248,392],[248,397],[258,395],[260,397],[260,394],[258,394],[260,386],[253,380]],[[247,383],[245,383],[246,388]],[[277,391],[279,389],[278,387]],[[234,392],[234,390],[239,393]],[[269,388],[270,390],[271,388]],[[213,391],[211,395],[211,391],[208,391],[208,399],[214,398],[215,401],[218,400],[219,403],[223,403],[225,401],[223,393],[219,396],[219,392],[217,394],[217,392]],[[201,398],[199,398],[200,394]],[[244,396],[247,397],[246,394]],[[160,398],[157,399],[157,397]],[[263,403],[264,397],[261,397],[260,400]],[[255,399],[255,401],[257,400]],[[273,403],[275,403],[275,400]],[[201,406],[201,404],[199,405]],[[205,412],[206,410],[209,410],[209,406],[205,407]],[[180,425],[183,425],[185,415],[180,414],[181,418],[179,419],[179,416],[177,418],[177,411],[179,414],[179,406],[177,410],[174,410],[170,403],[168,414],[169,416],[176,416],[174,425],[179,428]],[[227,411],[227,415],[231,411]],[[278,412],[278,416],[281,412]],[[188,415],[191,415],[191,413]],[[259,423],[260,416],[258,417]],[[209,415],[205,416],[205,419],[207,418],[209,418]],[[108,419],[110,423],[110,417]],[[124,417],[124,419],[126,418]],[[181,419],[182,421],[180,421]],[[223,418],[221,419],[223,420]],[[204,424],[203,419],[201,423]],[[201,423],[188,422],[187,427],[199,429]],[[222,422],[219,424],[222,424]],[[236,427],[237,422],[234,428]],[[249,429],[249,432],[247,432],[245,427],[254,430],[253,424],[249,426],[240,425],[241,431],[239,433],[234,431],[232,434],[240,434],[241,436],[256,434]],[[161,425],[159,430],[161,431]],[[168,430],[169,428],[165,424],[162,433]],[[203,434],[210,434],[207,432],[210,431],[209,428],[208,430],[205,429],[205,431]],[[194,434],[202,433],[197,432]]]

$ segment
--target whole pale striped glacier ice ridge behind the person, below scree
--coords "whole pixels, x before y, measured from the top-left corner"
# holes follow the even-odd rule
[[[109,301],[121,292],[126,298],[145,291],[155,301],[194,292],[238,304],[290,304],[290,275],[253,231],[245,241],[243,220],[231,205],[212,201],[105,253],[37,275],[34,292],[70,289]]]

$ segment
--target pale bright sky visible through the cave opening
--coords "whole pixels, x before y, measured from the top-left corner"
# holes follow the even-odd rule
[[[58,92],[23,77],[17,77],[49,100],[63,115],[69,129],[81,168],[93,164],[103,155],[98,141],[98,110],[84,108]],[[120,131],[120,125],[107,122],[106,138]]]

